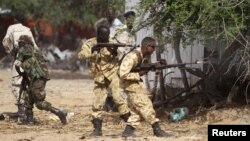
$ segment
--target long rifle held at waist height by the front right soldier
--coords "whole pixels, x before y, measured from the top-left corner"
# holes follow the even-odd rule
[[[156,71],[156,70],[161,70],[161,69],[167,69],[167,68],[183,68],[186,65],[190,64],[201,64],[203,61],[196,61],[194,63],[180,63],[180,64],[168,64],[168,65],[161,65],[160,63],[148,63],[148,64],[141,64],[135,68],[133,68],[131,71],[132,72],[139,72],[139,71]]]

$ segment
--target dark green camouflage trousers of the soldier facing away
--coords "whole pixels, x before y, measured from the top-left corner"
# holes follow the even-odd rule
[[[46,86],[47,80],[45,79],[36,79],[31,82],[28,86],[28,91],[25,94],[25,107],[27,109],[32,109],[35,104],[39,110],[50,111],[52,108],[51,103],[45,101]]]

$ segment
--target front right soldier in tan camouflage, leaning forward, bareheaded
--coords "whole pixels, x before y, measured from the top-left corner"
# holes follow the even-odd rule
[[[155,47],[156,41],[151,37],[145,37],[142,40],[141,48],[137,48],[128,53],[122,60],[119,69],[121,87],[127,94],[127,101],[129,108],[131,109],[131,113],[136,113],[129,116],[127,121],[128,125],[122,133],[123,137],[133,136],[136,126],[139,125],[140,117],[151,124],[155,136],[169,136],[169,134],[160,128],[159,119],[156,118],[152,102],[149,99],[147,95],[148,92],[140,78],[147,72],[131,72],[131,70],[139,65],[144,58],[151,56]]]

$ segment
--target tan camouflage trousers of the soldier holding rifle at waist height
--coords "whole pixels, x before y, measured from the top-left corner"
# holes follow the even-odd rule
[[[123,83],[123,87],[131,109],[131,116],[128,119],[129,125],[136,128],[140,124],[141,118],[151,125],[159,121],[143,82],[126,81]]]

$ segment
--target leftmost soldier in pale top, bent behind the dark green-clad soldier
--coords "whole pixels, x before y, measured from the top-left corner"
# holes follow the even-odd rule
[[[8,54],[11,54],[14,58],[14,61],[16,60],[16,54],[18,50],[18,42],[17,40],[21,35],[27,35],[31,38],[32,43],[34,44],[34,48],[38,50],[38,47],[35,43],[34,37],[32,35],[31,30],[24,26],[25,18],[23,15],[16,15],[14,19],[14,24],[10,25],[7,29],[7,33],[2,41],[3,47],[5,48],[5,51]],[[14,65],[12,69],[13,75],[11,79],[11,89],[12,93],[16,98],[16,105],[18,107],[18,111],[14,113],[13,117],[23,117],[24,116],[24,97],[23,97],[23,91],[20,91],[20,85],[22,81],[22,76],[20,76]]]

